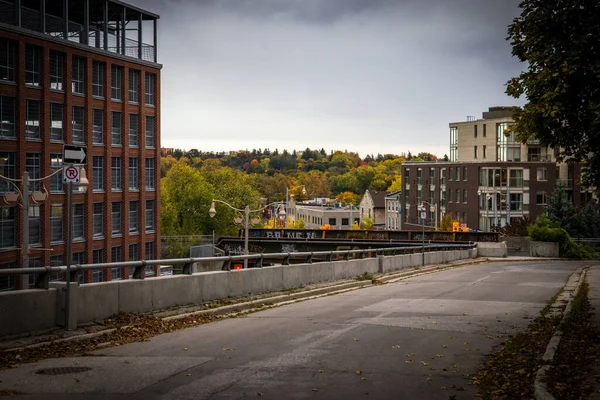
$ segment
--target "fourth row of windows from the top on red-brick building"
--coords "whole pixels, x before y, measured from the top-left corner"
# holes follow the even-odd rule
[[[104,238],[104,202],[92,204],[92,235],[94,239]],[[80,242],[85,240],[85,204],[73,204],[71,230],[73,241]],[[138,200],[128,202],[129,221],[127,231],[130,235],[139,234],[139,214],[140,206]],[[29,206],[29,243],[33,246],[41,245],[41,223],[43,216],[41,215],[41,207],[38,204]],[[62,204],[50,205],[50,243],[63,243],[65,241],[66,232],[64,231],[65,207]],[[123,235],[123,203],[113,201],[111,204],[111,232],[113,237]],[[155,201],[146,200],[145,211],[145,232],[152,233],[156,229],[154,217]],[[16,245],[16,220],[15,207],[3,206],[0,207],[0,247],[14,247]]]

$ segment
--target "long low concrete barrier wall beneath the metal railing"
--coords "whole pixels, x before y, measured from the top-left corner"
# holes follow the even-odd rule
[[[425,263],[440,264],[470,258],[474,254],[472,250],[431,252],[425,254]],[[102,320],[118,312],[145,313],[230,296],[294,289],[314,283],[352,279],[365,272],[375,274],[412,268],[422,265],[422,262],[422,255],[416,253],[91,283],[72,287],[70,320],[72,325]],[[0,293],[3,322],[0,324],[0,336],[55,327],[63,323],[63,305],[64,283],[48,290]]]

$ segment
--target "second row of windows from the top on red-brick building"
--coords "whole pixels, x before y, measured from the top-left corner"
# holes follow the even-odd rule
[[[110,143],[114,146],[121,146],[122,140],[122,113],[120,111],[111,112],[110,124]],[[61,103],[50,103],[50,141],[63,143],[64,139],[64,105]],[[73,106],[71,117],[73,143],[85,143],[85,108]],[[129,114],[129,147],[139,146],[139,121],[138,114]],[[146,116],[145,127],[145,147],[155,147],[155,126],[154,116]],[[15,98],[0,96],[0,139],[16,139],[16,117],[15,117]],[[40,140],[40,101],[27,99],[25,101],[25,139]],[[103,145],[104,138],[104,110],[92,110],[92,144]]]

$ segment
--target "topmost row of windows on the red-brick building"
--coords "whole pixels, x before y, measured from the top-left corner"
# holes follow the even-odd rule
[[[15,82],[16,80],[16,42],[0,38],[0,82]],[[52,90],[64,91],[65,83],[65,53],[50,50],[49,87]],[[71,91],[85,94],[86,59],[72,56],[71,60]],[[34,45],[25,46],[25,84],[30,87],[40,87],[42,68],[42,48]],[[104,98],[106,81],[106,63],[92,61],[92,96]],[[124,68],[111,65],[110,97],[115,101],[123,101],[123,72]],[[140,102],[141,71],[129,69],[128,101]],[[145,74],[144,100],[146,105],[156,104],[156,75]]]

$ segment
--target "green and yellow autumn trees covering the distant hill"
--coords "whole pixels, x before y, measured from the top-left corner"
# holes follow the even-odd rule
[[[332,198],[358,205],[367,190],[396,191],[404,161],[435,161],[430,153],[378,154],[324,149],[279,152],[253,150],[229,153],[175,150],[161,157],[161,233],[163,235],[236,234],[232,223],[241,215],[221,203],[208,215],[213,199],[243,210],[286,200]],[[303,193],[303,188],[305,193]],[[266,210],[269,210],[267,208]],[[257,215],[262,214],[262,215]],[[253,216],[269,217],[268,211]]]

